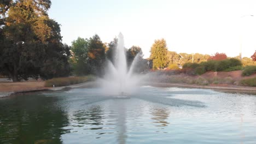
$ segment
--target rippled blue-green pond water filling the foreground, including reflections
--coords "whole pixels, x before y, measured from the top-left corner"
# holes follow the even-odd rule
[[[256,143],[256,97],[143,86],[2,98],[0,143]]]

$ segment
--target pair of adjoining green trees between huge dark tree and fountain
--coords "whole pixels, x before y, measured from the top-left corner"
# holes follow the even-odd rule
[[[105,62],[105,45],[95,34],[89,39],[78,37],[72,41],[73,57],[69,59],[75,75],[102,75]]]

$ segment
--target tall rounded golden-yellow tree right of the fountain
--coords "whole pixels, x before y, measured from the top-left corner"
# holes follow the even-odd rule
[[[168,62],[165,39],[155,40],[151,47],[150,59],[153,61],[153,69],[165,68]]]

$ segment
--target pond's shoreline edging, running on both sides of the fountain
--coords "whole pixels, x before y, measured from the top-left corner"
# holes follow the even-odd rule
[[[154,87],[183,87],[183,88],[203,88],[203,89],[212,89],[214,91],[222,92],[240,92],[240,93],[250,93],[256,94],[256,87],[242,87],[242,86],[202,86],[202,85],[190,85],[187,83],[158,83],[158,82],[145,82],[142,85],[154,86]],[[84,83],[78,83],[75,85],[63,86],[63,87],[44,87],[39,89],[23,89],[21,91],[15,92],[0,92],[0,98],[9,97],[11,95],[30,93],[30,92],[42,92],[42,91],[65,91],[71,88],[86,88],[86,87],[95,87],[97,86],[96,81],[89,81]]]

